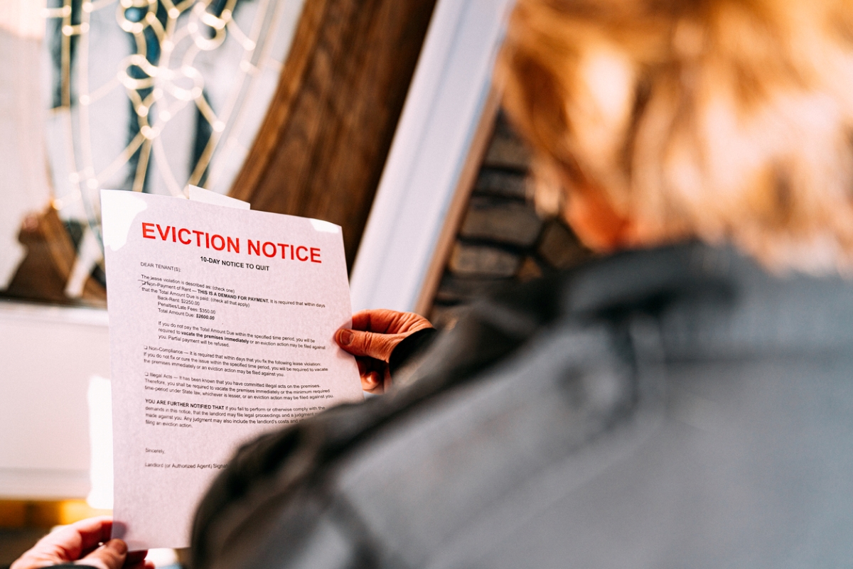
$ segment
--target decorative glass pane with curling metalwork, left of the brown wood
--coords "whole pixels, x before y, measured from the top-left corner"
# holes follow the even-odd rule
[[[0,20],[10,62],[0,127],[17,134],[0,142],[3,295],[104,302],[102,188],[226,193],[302,3],[13,0],[12,23]]]

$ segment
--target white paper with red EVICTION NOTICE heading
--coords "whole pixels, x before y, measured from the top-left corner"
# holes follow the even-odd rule
[[[238,445],[363,400],[340,227],[102,191],[113,381],[113,537],[189,545]]]

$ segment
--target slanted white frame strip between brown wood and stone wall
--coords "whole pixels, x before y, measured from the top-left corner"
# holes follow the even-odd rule
[[[353,310],[415,310],[512,4],[438,1],[352,270]]]

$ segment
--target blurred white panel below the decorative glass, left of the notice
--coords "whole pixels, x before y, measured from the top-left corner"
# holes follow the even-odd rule
[[[0,302],[0,498],[86,497],[93,375],[110,376],[106,311]]]

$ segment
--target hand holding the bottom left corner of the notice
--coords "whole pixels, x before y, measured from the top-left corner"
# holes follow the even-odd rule
[[[108,516],[78,521],[42,537],[9,569],[38,569],[74,562],[97,569],[154,569],[154,564],[145,562],[148,551],[129,554],[125,542],[109,538],[112,529],[113,519]]]

